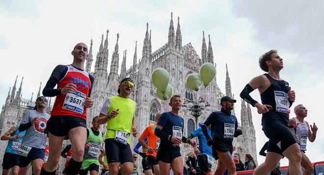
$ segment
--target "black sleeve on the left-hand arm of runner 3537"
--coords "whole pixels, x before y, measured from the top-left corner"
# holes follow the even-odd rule
[[[54,89],[56,84],[65,76],[68,67],[66,65],[58,65],[54,68],[50,79],[47,81],[44,89],[43,96],[45,97],[55,97],[61,94],[60,89]]]

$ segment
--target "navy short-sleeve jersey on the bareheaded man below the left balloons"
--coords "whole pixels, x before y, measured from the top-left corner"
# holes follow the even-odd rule
[[[172,137],[182,138],[184,119],[172,112],[164,112],[159,119],[157,125],[162,126],[162,132]],[[161,139],[161,144],[172,146],[173,143],[167,139]]]

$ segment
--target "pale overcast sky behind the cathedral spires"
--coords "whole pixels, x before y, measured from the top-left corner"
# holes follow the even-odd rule
[[[78,42],[98,51],[101,34],[108,34],[111,55],[119,32],[119,56],[127,49],[127,68],[133,63],[135,41],[137,58],[141,58],[146,23],[152,29],[152,51],[167,42],[170,13],[174,27],[180,17],[183,45],[191,42],[201,52],[202,31],[211,34],[217,84],[225,92],[225,63],[228,64],[232,93],[239,94],[254,76],[264,74],[258,58],[270,49],[283,58],[281,78],[296,91],[293,107],[304,104],[306,121],[318,127],[314,143],[307,142],[306,155],[312,162],[323,161],[324,131],[322,99],[324,98],[324,2],[315,0],[224,0],[224,1],[0,1],[0,105],[4,104],[9,87],[22,76],[23,98],[37,93],[39,83],[45,85],[54,67],[72,63],[71,50]],[[207,38],[206,38],[207,39]],[[201,56],[200,56],[201,57]],[[120,59],[121,64],[122,59]],[[93,61],[94,66],[95,60]],[[93,71],[93,68],[92,68]],[[18,87],[17,87],[18,88]],[[252,93],[260,101],[257,91]],[[257,152],[268,140],[261,130],[261,115],[252,108],[256,130]],[[238,116],[240,117],[240,116]],[[294,117],[294,114],[291,114]],[[264,157],[258,156],[258,163]],[[283,159],[282,165],[287,165]]]

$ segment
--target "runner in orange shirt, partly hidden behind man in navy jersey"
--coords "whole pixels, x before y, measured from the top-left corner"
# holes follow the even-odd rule
[[[162,113],[159,113],[155,116],[155,121],[159,121]],[[159,162],[156,160],[157,150],[160,145],[160,138],[154,134],[154,130],[157,124],[148,125],[143,133],[140,135],[138,142],[142,145],[143,149],[146,150],[146,160],[153,166],[154,174],[160,175]],[[148,138],[147,144],[144,141],[145,138]],[[151,174],[145,175],[153,175]]]

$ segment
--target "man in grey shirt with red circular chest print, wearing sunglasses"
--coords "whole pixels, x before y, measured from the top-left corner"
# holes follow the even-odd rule
[[[17,150],[19,175],[26,175],[32,161],[32,173],[39,175],[45,156],[47,134],[44,133],[50,115],[46,113],[47,99],[43,96],[35,101],[34,110],[27,110],[18,130],[26,130],[24,139]]]

